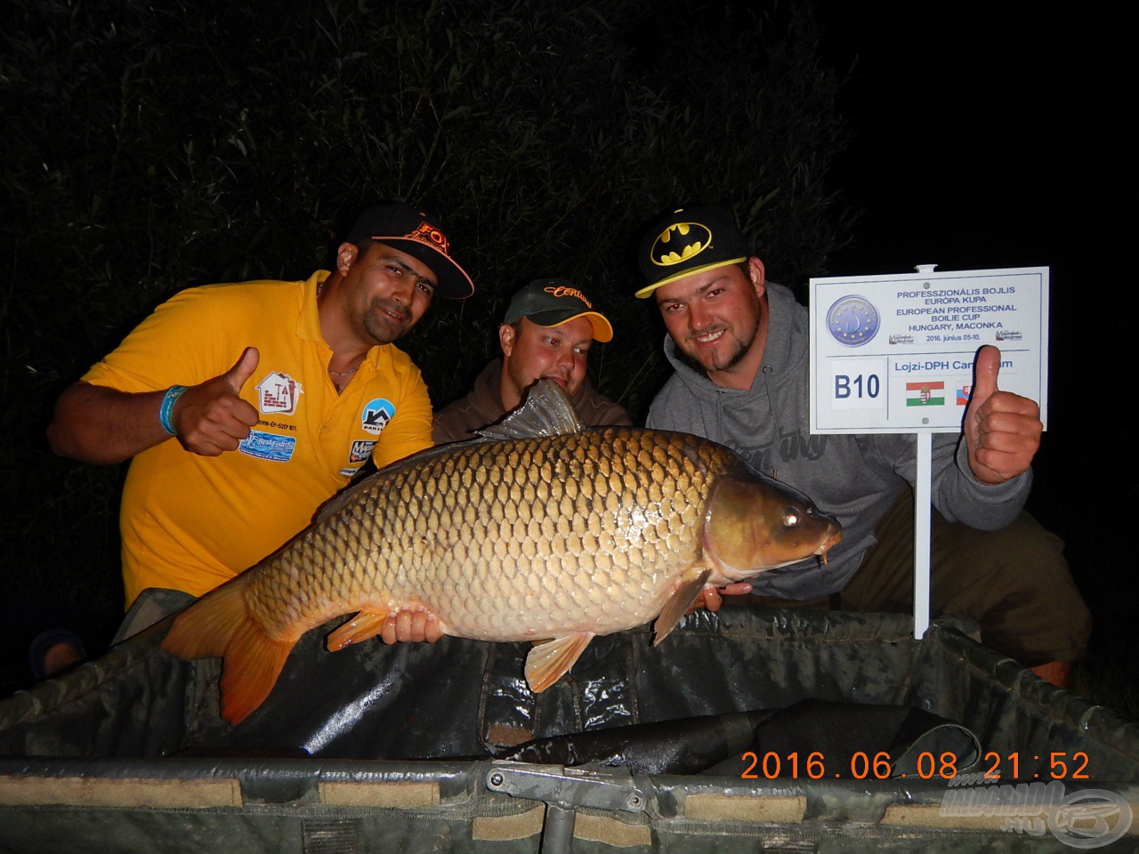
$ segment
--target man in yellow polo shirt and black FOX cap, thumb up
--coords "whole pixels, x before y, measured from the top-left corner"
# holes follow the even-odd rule
[[[279,548],[369,458],[383,467],[429,447],[427,388],[393,342],[435,294],[472,293],[434,217],[376,205],[331,272],[183,290],[65,389],[52,450],[132,458],[128,607],[149,592],[116,640]]]

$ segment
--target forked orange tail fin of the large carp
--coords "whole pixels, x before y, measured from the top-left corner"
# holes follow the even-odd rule
[[[280,675],[296,640],[276,640],[249,615],[243,574],[206,593],[174,618],[162,648],[179,658],[220,657],[221,713],[239,723],[257,708]]]

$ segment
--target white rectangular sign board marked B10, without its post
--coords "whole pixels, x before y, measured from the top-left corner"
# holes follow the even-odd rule
[[[983,344],[1048,426],[1048,268],[811,279],[811,433],[957,433]]]

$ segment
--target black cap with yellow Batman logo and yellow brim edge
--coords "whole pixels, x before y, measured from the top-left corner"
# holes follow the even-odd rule
[[[637,264],[647,282],[637,291],[644,299],[662,285],[693,273],[746,261],[747,239],[723,211],[689,207],[657,220],[641,238]]]

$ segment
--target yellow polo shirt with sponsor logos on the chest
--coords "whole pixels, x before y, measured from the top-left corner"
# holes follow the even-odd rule
[[[83,377],[154,392],[216,377],[247,346],[261,354],[241,388],[261,420],[238,450],[199,457],[170,438],[131,461],[120,515],[128,607],[146,588],[202,596],[301,531],[369,457],[383,467],[432,445],[427,387],[395,345],[372,347],[336,393],[317,313],[328,276],[183,290]]]

